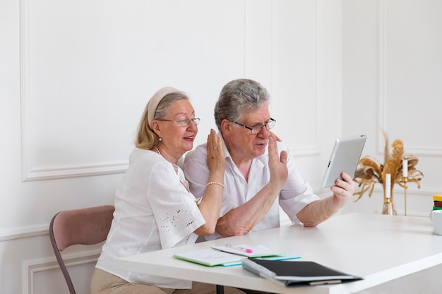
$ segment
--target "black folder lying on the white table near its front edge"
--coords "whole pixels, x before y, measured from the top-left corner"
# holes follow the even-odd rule
[[[361,280],[316,262],[244,259],[242,267],[284,286],[323,285]]]

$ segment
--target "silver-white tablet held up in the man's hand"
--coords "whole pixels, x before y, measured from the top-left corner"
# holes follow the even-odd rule
[[[336,139],[327,169],[322,180],[321,188],[335,185],[335,180],[341,178],[342,171],[354,178],[354,172],[364,149],[366,135],[340,137]]]

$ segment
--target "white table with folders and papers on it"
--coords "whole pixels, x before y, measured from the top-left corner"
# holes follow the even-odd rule
[[[204,267],[172,257],[213,245],[263,244],[364,280],[285,288],[237,267]],[[440,293],[442,235],[431,221],[410,216],[343,214],[316,228],[284,226],[184,247],[121,258],[120,269],[271,293]]]

